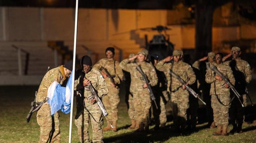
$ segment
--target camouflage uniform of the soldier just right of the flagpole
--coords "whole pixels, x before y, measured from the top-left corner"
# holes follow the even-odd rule
[[[108,87],[105,83],[105,79],[101,75],[98,70],[92,69],[88,73],[85,74],[85,77],[89,79],[93,85],[93,87],[97,90],[98,96],[103,97],[104,95],[108,94]],[[75,80],[74,90],[79,90],[84,88],[84,101],[85,101],[85,108],[84,109],[84,123],[82,123],[82,116],[79,116],[78,119],[75,119],[75,125],[77,127],[77,133],[80,142],[81,139],[81,125],[84,124],[84,142],[90,143],[89,141],[89,119],[91,119],[92,130],[93,130],[93,143],[103,143],[103,133],[101,126],[103,125],[102,119],[102,111],[99,108],[96,102],[91,103],[88,99],[88,96],[91,95],[89,89],[86,86],[82,86],[83,83],[79,83],[80,78]],[[96,121],[95,121],[95,120]]]

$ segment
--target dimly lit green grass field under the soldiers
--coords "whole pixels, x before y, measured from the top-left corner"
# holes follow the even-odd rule
[[[248,85],[250,96],[256,104],[256,80]],[[26,116],[30,110],[30,102],[34,100],[36,86],[0,86],[0,143],[35,143],[39,140],[39,125],[36,122],[34,113],[29,123]],[[161,131],[149,131],[148,133],[134,133],[132,129],[127,129],[130,125],[126,103],[124,101],[124,91],[120,92],[121,102],[118,106],[118,131],[104,132],[105,143],[256,143],[256,122],[255,108],[246,108],[246,123],[243,124],[244,133],[229,136],[212,136],[215,129],[207,129],[205,121],[205,109],[203,106],[198,110],[200,124],[197,131],[185,134],[175,133],[171,130],[170,106],[167,104],[168,121],[167,128]],[[74,106],[73,114],[76,112]],[[61,142],[68,143],[70,114],[60,113]],[[74,121],[74,116],[73,116]],[[105,127],[106,124],[103,125]],[[150,126],[150,129],[154,127]],[[229,130],[231,129],[229,126]],[[90,132],[91,134],[91,132]],[[79,143],[76,126],[72,126],[72,143]]]

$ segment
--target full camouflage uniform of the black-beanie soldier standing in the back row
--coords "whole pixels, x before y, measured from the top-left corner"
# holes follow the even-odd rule
[[[114,65],[115,64],[115,65]],[[114,77],[114,81],[116,84],[120,84],[120,79],[123,77],[122,69],[118,66],[119,62],[116,60],[109,61],[107,58],[103,58],[98,61],[93,68],[96,70],[100,70],[101,67],[104,67],[112,77]],[[102,70],[102,72],[105,72]],[[122,79],[121,79],[122,80]],[[119,89],[115,88],[110,81],[110,78],[107,77],[105,82],[108,86],[109,93],[108,96],[102,98],[102,102],[109,113],[109,120],[113,123],[118,120],[118,104],[120,102],[120,97],[118,95]]]

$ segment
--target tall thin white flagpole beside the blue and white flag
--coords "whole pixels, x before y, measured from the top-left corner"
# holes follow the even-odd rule
[[[72,134],[72,115],[73,115],[73,103],[74,103],[73,102],[73,100],[74,100],[74,80],[75,80],[75,66],[76,66],[77,18],[78,18],[78,0],[76,0],[74,52],[73,52],[72,86],[71,86],[71,109],[70,109],[70,120],[69,120],[69,138],[68,138],[68,143],[71,143],[71,134]]]

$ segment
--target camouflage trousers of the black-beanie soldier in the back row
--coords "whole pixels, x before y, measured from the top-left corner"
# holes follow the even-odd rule
[[[109,93],[102,97],[102,102],[109,113],[108,118],[111,121],[118,120],[118,104],[120,102],[120,97],[118,95],[119,89],[115,88],[112,85],[108,86]]]

